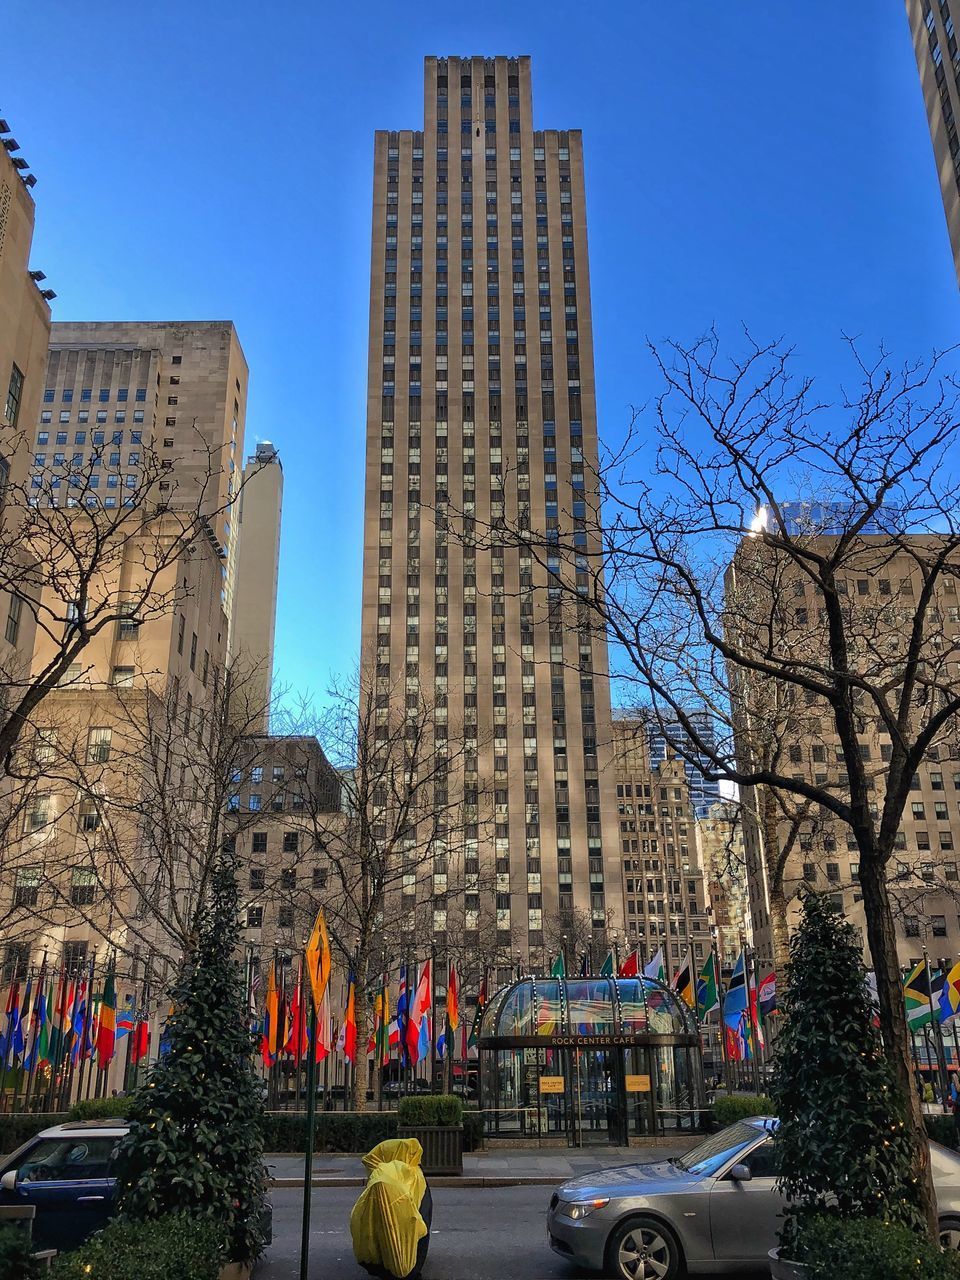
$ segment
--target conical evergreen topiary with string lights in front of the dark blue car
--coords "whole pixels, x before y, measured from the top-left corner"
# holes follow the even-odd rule
[[[265,1171],[237,913],[236,864],[224,852],[172,992],[168,1052],[132,1100],[118,1188],[124,1217],[200,1215],[227,1257],[246,1262],[262,1247]]]

